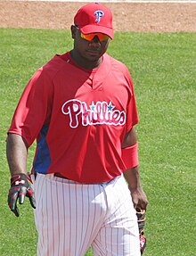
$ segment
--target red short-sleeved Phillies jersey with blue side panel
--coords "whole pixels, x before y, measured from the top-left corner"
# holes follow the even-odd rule
[[[37,139],[33,168],[82,183],[120,175],[125,134],[138,122],[127,67],[108,54],[85,70],[69,53],[37,70],[21,95],[8,133]]]

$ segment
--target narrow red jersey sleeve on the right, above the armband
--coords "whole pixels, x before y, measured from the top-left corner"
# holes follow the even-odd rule
[[[129,70],[126,71],[127,84],[129,87],[129,99],[127,103],[127,127],[126,132],[135,126],[139,122],[139,117],[137,113],[137,105],[135,101],[135,91],[134,83],[129,73]]]

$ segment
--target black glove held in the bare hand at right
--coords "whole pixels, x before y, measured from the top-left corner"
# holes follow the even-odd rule
[[[144,225],[145,225],[145,210],[136,209],[136,215],[137,215],[137,223],[139,227],[139,234],[140,234],[140,251],[141,255],[143,255],[143,252],[146,247],[146,238],[144,236]]]

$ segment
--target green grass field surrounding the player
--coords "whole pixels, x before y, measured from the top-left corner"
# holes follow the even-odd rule
[[[41,29],[0,29],[0,38],[0,255],[35,256],[37,231],[29,202],[20,206],[18,219],[6,204],[6,131],[31,75],[54,54],[68,51],[72,40],[69,31]],[[127,64],[135,82],[141,178],[149,198],[144,255],[193,256],[196,34],[118,32],[108,53]],[[33,155],[34,146],[28,169]]]

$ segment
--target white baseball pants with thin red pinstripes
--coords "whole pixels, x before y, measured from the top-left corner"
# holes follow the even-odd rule
[[[37,174],[38,256],[140,256],[133,202],[122,177],[79,184]]]

